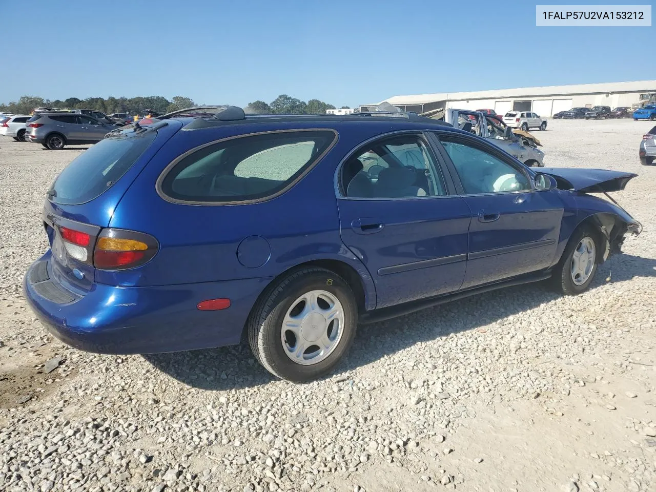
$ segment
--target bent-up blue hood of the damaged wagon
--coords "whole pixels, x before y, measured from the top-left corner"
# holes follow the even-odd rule
[[[558,188],[581,193],[608,193],[624,190],[626,183],[638,176],[609,169],[573,169],[544,167],[540,173],[554,176]]]

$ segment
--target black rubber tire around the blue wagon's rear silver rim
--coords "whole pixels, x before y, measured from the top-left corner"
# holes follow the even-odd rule
[[[302,365],[287,356],[283,346],[283,319],[304,293],[327,291],[342,304],[344,326],[340,340],[326,358]],[[249,344],[260,364],[280,379],[306,382],[331,372],[350,348],[356,335],[358,306],[353,291],[342,277],[319,267],[300,268],[267,288],[246,323]],[[309,349],[308,349],[309,350]]]

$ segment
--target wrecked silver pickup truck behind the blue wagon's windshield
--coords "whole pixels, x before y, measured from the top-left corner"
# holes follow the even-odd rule
[[[544,167],[544,152],[535,144],[531,144],[530,138],[515,134],[494,116],[478,111],[449,108],[445,112],[444,121],[456,128],[482,136],[529,167]]]

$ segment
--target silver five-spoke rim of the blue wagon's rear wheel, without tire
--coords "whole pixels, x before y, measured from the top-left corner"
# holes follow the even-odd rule
[[[281,330],[285,354],[301,365],[321,362],[344,333],[344,309],[327,291],[310,291],[292,302]]]

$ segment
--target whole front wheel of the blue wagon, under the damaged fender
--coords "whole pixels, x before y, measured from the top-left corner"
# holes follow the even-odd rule
[[[586,226],[569,238],[552,277],[556,291],[578,295],[590,287],[597,272],[597,237],[596,232]]]

